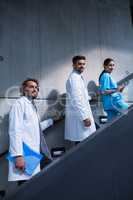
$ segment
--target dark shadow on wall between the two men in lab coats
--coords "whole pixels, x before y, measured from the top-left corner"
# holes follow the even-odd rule
[[[52,90],[47,96],[47,110],[42,116],[42,120],[52,118],[54,125],[44,131],[49,149],[64,147],[64,115],[66,95],[60,94],[58,90]]]

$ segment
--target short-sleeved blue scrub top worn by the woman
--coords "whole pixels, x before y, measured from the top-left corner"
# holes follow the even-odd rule
[[[100,76],[100,80],[99,80],[100,93],[104,92],[105,90],[116,89],[116,88],[117,88],[117,83],[113,80],[113,78],[111,77],[111,75],[109,73],[104,72]],[[103,94],[102,102],[103,102],[104,110],[114,110],[115,109],[111,103],[111,95],[110,94]]]

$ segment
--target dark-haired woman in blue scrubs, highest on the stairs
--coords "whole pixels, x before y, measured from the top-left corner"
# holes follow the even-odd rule
[[[99,76],[99,88],[102,95],[103,108],[107,112],[108,121],[110,121],[120,114],[119,109],[112,103],[112,94],[122,92],[125,86],[117,86],[117,83],[111,76],[115,68],[115,62],[112,58],[105,59],[103,67],[104,70]]]

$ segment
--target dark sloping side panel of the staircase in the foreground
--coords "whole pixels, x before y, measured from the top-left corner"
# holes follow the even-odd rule
[[[23,184],[7,200],[132,200],[133,107]]]

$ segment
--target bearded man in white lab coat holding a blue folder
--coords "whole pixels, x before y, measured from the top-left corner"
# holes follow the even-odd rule
[[[43,152],[51,159],[50,152],[42,135],[42,130],[53,124],[52,119],[39,122],[34,99],[39,92],[39,83],[36,79],[27,79],[21,86],[22,97],[12,106],[9,114],[9,152],[14,162],[9,161],[9,181],[22,183],[40,171],[40,164],[33,174],[25,173],[25,159],[23,143],[36,153]]]

